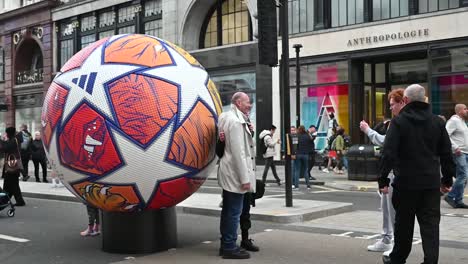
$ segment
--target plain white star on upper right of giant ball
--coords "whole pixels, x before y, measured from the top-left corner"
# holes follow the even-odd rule
[[[169,45],[165,45],[176,65],[158,67],[142,71],[142,74],[156,78],[164,78],[180,85],[179,122],[184,120],[198,99],[202,99],[214,111],[215,105],[206,82],[208,73],[197,66],[191,65],[182,55]],[[181,74],[183,73],[183,74]]]

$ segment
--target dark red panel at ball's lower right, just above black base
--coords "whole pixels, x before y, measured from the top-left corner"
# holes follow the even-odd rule
[[[148,203],[148,209],[160,209],[172,207],[200,188],[205,179],[179,178],[159,184],[159,188],[153,199]]]

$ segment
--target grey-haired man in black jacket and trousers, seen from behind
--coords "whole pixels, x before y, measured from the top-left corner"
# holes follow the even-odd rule
[[[418,218],[424,263],[439,259],[440,191],[452,186],[455,163],[451,143],[442,120],[425,103],[424,87],[405,89],[406,106],[390,124],[382,154],[379,188],[388,192],[390,170],[395,179],[392,204],[395,208],[395,246],[384,263],[406,263],[411,252],[414,218]],[[442,166],[442,179],[440,178]]]

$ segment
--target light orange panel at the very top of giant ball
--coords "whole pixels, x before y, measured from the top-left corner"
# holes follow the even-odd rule
[[[172,59],[158,40],[145,35],[127,35],[107,46],[104,61],[147,67],[171,65]]]

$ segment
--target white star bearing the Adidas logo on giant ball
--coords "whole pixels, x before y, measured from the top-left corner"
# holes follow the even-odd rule
[[[69,88],[62,121],[67,119],[68,115],[83,99],[101,110],[108,118],[114,120],[106,96],[106,83],[141,67],[115,63],[102,64],[102,51],[102,47],[98,47],[84,61],[81,67],[55,77],[54,82]]]

